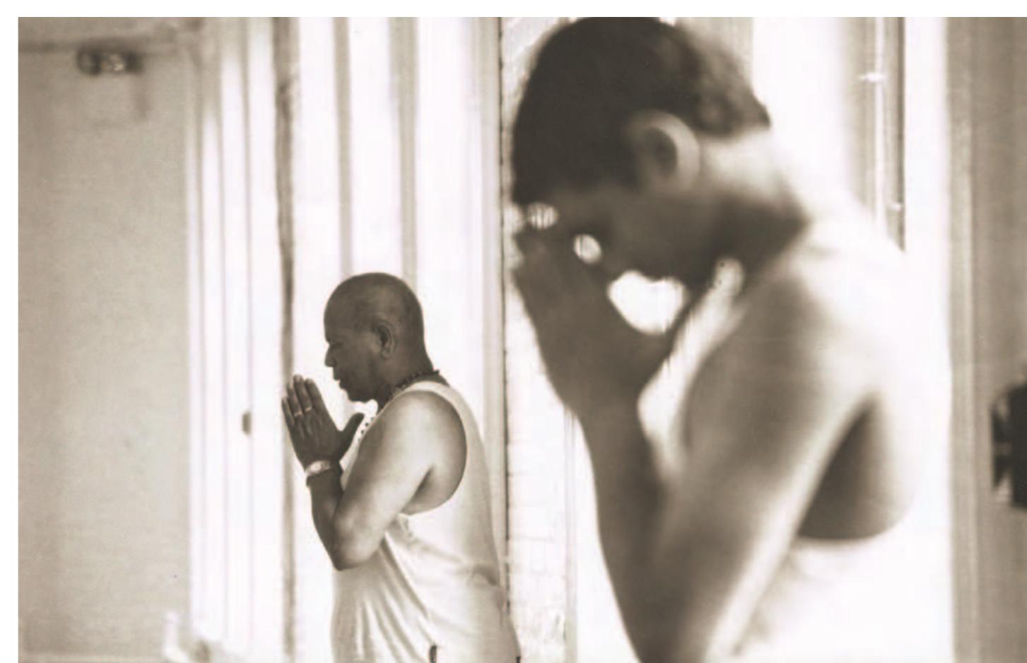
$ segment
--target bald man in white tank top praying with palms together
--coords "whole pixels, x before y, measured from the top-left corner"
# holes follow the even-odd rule
[[[326,306],[325,340],[349,400],[378,404],[357,435],[363,415],[339,431],[312,380],[296,376],[281,402],[339,572],[336,661],[517,660],[481,435],[428,356],[416,296],[387,274],[347,279]]]

